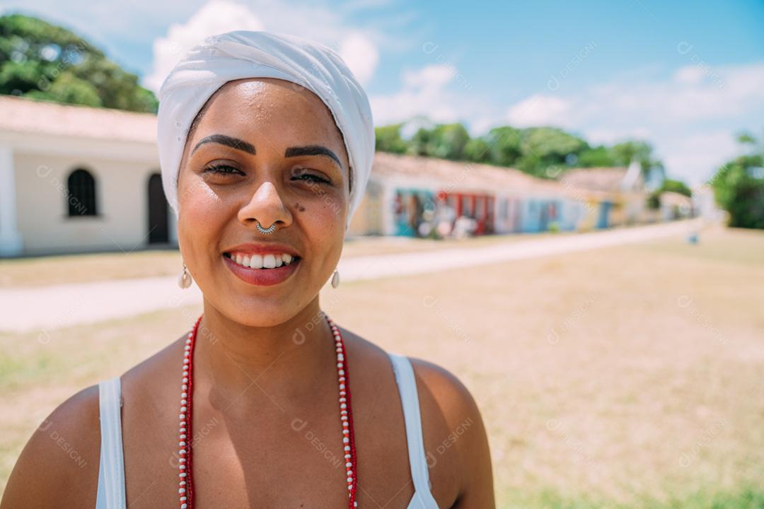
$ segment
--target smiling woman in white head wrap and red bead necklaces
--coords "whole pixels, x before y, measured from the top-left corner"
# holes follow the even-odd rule
[[[374,156],[367,97],[339,56],[284,35],[210,37],[164,82],[158,130],[180,282],[196,280],[203,314],[53,411],[2,509],[494,507],[465,386],[319,305]]]

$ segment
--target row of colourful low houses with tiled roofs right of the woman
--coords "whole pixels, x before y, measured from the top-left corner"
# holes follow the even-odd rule
[[[538,179],[512,168],[377,153],[351,235],[594,230],[647,221],[639,167],[572,169]]]

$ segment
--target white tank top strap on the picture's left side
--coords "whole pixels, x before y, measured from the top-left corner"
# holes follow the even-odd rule
[[[125,459],[122,452],[121,382],[99,382],[101,460],[95,509],[125,509]]]

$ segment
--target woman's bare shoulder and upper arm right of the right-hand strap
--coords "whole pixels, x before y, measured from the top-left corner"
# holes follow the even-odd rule
[[[495,507],[490,449],[478,404],[460,379],[433,362],[410,357],[416,377],[429,468],[454,469],[452,507]]]

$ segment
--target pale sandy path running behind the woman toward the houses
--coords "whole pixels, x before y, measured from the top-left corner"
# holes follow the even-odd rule
[[[338,270],[344,282],[442,272],[448,269],[495,263],[500,260],[549,256],[555,253],[569,253],[645,239],[676,236],[685,234],[691,224],[696,222],[682,221],[580,235],[544,236],[521,242],[500,242],[494,239],[489,239],[490,242],[487,242],[478,238],[467,243],[460,243],[460,246],[439,250],[430,249],[436,244],[432,240],[425,240],[423,243],[416,241],[412,243],[410,239],[406,239],[407,242],[387,240],[384,243],[385,246],[400,249],[403,246],[411,246],[412,249],[407,252],[388,252],[380,249],[374,255],[343,256]],[[351,251],[358,253],[359,250],[368,249],[369,246],[365,244],[381,244],[381,241],[358,241]],[[453,243],[449,242],[445,245],[453,245]],[[138,259],[130,258],[130,255],[123,256],[126,266],[122,270],[129,272],[137,270],[138,266],[144,266],[147,261],[146,256],[141,255]],[[100,269],[108,272],[108,265],[113,263],[114,259],[111,256],[87,255],[82,257],[79,266],[73,266],[75,261],[76,258],[73,257],[66,260],[66,265],[70,266],[72,274],[82,273],[83,266],[90,271],[98,270],[99,263],[102,265]],[[166,261],[163,260],[163,263]],[[45,263],[50,261],[40,260],[37,264],[17,263],[11,266],[15,269],[13,273],[16,279],[36,281],[34,276],[43,269],[40,264]],[[92,263],[95,263],[96,267],[93,267]],[[0,288],[0,309],[5,312],[3,320],[0,321],[0,330],[16,332],[37,330],[40,335],[47,336],[51,330],[60,327],[129,317],[202,301],[202,294],[196,285],[181,290],[176,284],[176,278],[177,275],[140,279],[109,279],[107,277],[103,281],[95,282]]]

